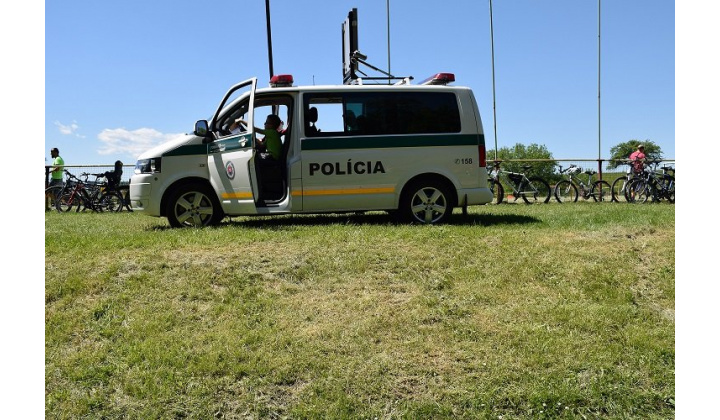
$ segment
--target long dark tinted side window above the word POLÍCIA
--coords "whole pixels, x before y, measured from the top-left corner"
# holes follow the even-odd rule
[[[304,102],[306,115],[310,108],[317,110],[316,121],[305,122],[307,137],[458,133],[461,129],[452,92],[313,93],[306,94]]]

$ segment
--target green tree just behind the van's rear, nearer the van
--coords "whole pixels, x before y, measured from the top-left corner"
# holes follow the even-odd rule
[[[492,166],[494,159],[494,149],[488,150],[488,166]],[[544,159],[546,161],[533,162],[532,160],[535,159]],[[503,170],[511,172],[522,172],[524,165],[531,165],[532,169],[530,169],[529,175],[539,176],[546,180],[552,179],[553,173],[555,172],[556,162],[553,160],[552,153],[550,153],[545,145],[536,143],[532,143],[529,146],[516,143],[515,146],[512,147],[501,147],[498,149],[498,160],[502,161],[501,167]]]

